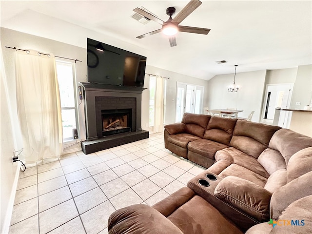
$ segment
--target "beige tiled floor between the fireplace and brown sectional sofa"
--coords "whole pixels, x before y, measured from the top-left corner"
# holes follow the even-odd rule
[[[116,209],[153,205],[204,168],[164,148],[163,134],[93,154],[44,160],[20,172],[10,233],[105,234]]]

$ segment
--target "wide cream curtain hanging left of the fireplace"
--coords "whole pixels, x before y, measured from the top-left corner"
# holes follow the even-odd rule
[[[17,50],[17,108],[26,163],[62,153],[62,121],[56,62],[53,55]]]

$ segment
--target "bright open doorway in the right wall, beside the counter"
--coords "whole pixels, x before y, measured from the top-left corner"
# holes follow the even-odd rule
[[[264,106],[262,111],[262,123],[280,127],[286,127],[288,123],[288,112],[282,111],[275,116],[275,109],[287,109],[292,98],[293,83],[289,84],[267,84]],[[278,119],[276,119],[278,118]]]

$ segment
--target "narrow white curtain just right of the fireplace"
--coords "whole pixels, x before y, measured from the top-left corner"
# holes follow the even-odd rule
[[[163,77],[156,77],[154,133],[162,132],[164,129],[164,79]]]

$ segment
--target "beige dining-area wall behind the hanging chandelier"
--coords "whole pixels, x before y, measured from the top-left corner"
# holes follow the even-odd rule
[[[210,109],[226,109],[227,107],[243,110],[238,117],[247,118],[254,112],[253,121],[258,122],[262,108],[262,96],[265,86],[266,71],[236,73],[237,93],[228,92],[233,83],[234,74],[217,75],[208,81],[208,107]]]

